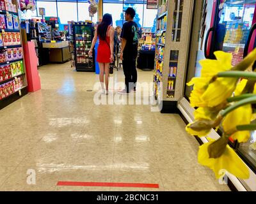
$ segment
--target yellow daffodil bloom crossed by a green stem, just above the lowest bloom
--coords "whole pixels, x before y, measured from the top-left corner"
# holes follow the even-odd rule
[[[252,106],[250,104],[240,106],[224,118],[222,122],[225,133],[236,130],[236,126],[250,124],[252,119]],[[250,138],[250,131],[237,131],[231,135],[234,140],[238,142],[247,142]]]

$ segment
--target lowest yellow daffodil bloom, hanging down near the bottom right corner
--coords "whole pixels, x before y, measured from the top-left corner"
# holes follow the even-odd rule
[[[240,179],[248,179],[250,177],[248,168],[245,166],[240,157],[237,156],[236,152],[228,145],[220,157],[216,159],[210,158],[208,147],[212,142],[214,141],[205,143],[199,147],[198,163],[211,168],[211,170],[214,171],[217,179],[220,179],[223,170],[227,170],[229,173],[232,173],[234,176]]]

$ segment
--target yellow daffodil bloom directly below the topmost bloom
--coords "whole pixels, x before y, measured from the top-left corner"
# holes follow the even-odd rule
[[[236,89],[236,83],[236,78],[217,78],[217,80],[209,84],[201,99],[209,107],[225,103],[227,98],[232,96],[232,93]]]

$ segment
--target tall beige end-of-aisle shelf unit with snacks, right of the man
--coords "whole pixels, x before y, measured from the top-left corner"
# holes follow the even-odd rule
[[[161,112],[175,112],[182,96],[193,0],[159,0],[154,94]]]

